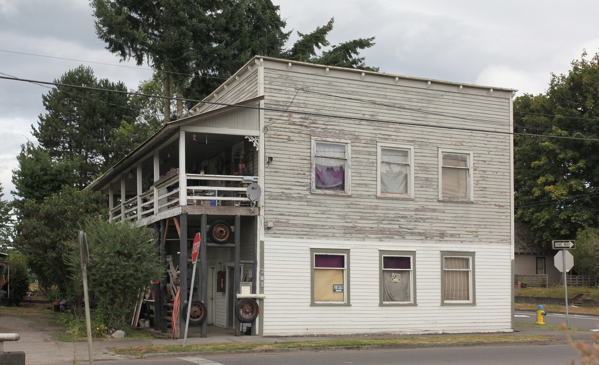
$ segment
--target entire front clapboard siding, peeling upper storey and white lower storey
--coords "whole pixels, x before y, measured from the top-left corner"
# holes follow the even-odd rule
[[[510,331],[510,90],[363,78],[264,60],[265,107],[289,108],[264,112],[264,335]],[[349,196],[310,192],[314,136],[350,141]],[[413,146],[414,199],[377,197],[377,142]],[[438,199],[440,148],[472,152],[473,202]],[[350,250],[350,306],[310,306],[310,248]],[[416,306],[379,306],[379,250],[416,252]],[[476,305],[441,306],[441,251],[475,253]]]

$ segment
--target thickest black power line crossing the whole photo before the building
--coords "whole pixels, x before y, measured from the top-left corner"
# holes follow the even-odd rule
[[[237,108],[256,109],[256,110],[274,111],[274,112],[289,112],[289,113],[292,113],[292,114],[311,115],[311,116],[314,116],[314,117],[323,117],[323,118],[338,118],[338,119],[356,120],[356,121],[373,121],[373,122],[376,122],[376,123],[391,123],[391,124],[398,124],[398,125],[404,125],[404,126],[427,127],[427,128],[436,128],[436,129],[464,130],[464,131],[467,131],[467,132],[480,132],[480,133],[489,133],[489,134],[535,136],[535,137],[545,137],[545,138],[573,139],[573,140],[579,140],[579,141],[599,142],[599,139],[593,139],[593,138],[579,138],[579,137],[552,136],[552,135],[537,135],[537,134],[531,134],[531,133],[504,132],[504,131],[501,131],[501,130],[486,130],[486,129],[467,128],[467,127],[456,127],[456,126],[440,126],[440,125],[439,126],[435,126],[435,125],[431,125],[431,124],[415,123],[415,122],[410,122],[410,121],[392,121],[392,120],[377,119],[377,118],[367,118],[367,117],[349,117],[347,115],[325,114],[325,113],[297,111],[297,110],[279,109],[279,108],[253,107],[251,105],[240,105],[240,104],[219,103],[219,102],[211,102],[211,101],[201,101],[201,100],[196,100],[196,99],[176,98],[176,97],[173,97],[173,96],[149,95],[149,94],[143,94],[143,93],[125,92],[125,91],[121,91],[121,90],[107,90],[107,89],[100,89],[98,87],[78,86],[78,85],[69,85],[69,84],[62,84],[62,83],[51,83],[51,82],[48,82],[48,81],[27,80],[27,79],[22,79],[22,78],[5,77],[5,76],[0,76],[0,78],[4,78],[6,80],[24,81],[24,82],[27,82],[27,83],[49,84],[49,85],[54,85],[54,86],[75,87],[75,88],[78,88],[78,89],[89,89],[89,90],[98,90],[98,91],[113,92],[113,93],[123,93],[123,94],[128,94],[128,95],[146,96],[148,98],[162,98],[162,99],[177,100],[177,101],[189,101],[189,102],[196,102],[196,103],[210,104],[210,105],[220,105],[220,106],[223,106],[223,107],[237,107]],[[409,111],[412,111],[412,112],[422,112],[424,114],[428,114],[427,112],[420,111],[419,109],[410,109]],[[462,119],[462,120],[467,120],[467,118],[455,117],[453,115],[446,115],[446,116],[447,117],[453,117],[453,118],[459,118],[459,119]]]

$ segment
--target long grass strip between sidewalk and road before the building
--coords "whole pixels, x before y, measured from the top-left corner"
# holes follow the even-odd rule
[[[334,339],[301,342],[277,343],[215,343],[183,345],[147,345],[109,348],[119,355],[141,357],[145,354],[162,354],[168,352],[207,352],[234,350],[274,350],[283,348],[323,348],[352,346],[398,346],[398,345],[439,345],[445,343],[489,343],[489,342],[531,342],[553,340],[550,336],[533,336],[528,334],[500,334],[481,336],[436,336],[436,337],[401,337],[390,339]]]

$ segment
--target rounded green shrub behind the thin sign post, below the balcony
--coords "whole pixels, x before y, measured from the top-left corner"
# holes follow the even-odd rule
[[[158,247],[147,227],[110,224],[90,219],[84,228],[90,261],[87,264],[89,296],[109,326],[125,324],[140,293],[161,276]],[[69,266],[77,273],[77,291],[83,295],[78,244],[72,243]]]

